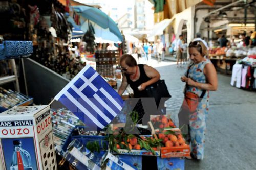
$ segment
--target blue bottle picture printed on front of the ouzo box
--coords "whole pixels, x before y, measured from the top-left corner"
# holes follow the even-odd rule
[[[13,155],[10,170],[33,170],[28,151],[22,149],[22,141],[13,140]]]

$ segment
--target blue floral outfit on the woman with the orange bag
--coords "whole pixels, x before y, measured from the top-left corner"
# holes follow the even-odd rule
[[[198,64],[192,64],[189,69],[188,77],[199,83],[206,83],[206,77],[204,75],[204,67],[206,64],[211,63],[209,59]],[[190,64],[190,65],[191,65]],[[187,91],[193,92],[198,96],[201,96],[202,90],[188,86]],[[203,159],[204,157],[204,142],[206,132],[206,119],[209,111],[209,91],[206,91],[203,99],[198,104],[197,111],[189,115],[189,127],[191,138],[191,153],[197,159]]]

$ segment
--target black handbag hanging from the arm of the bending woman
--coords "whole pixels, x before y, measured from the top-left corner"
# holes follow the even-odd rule
[[[156,83],[147,86],[145,90],[149,98],[155,98],[157,106],[159,106],[161,98],[164,98],[164,101],[172,98],[164,80],[159,80]]]

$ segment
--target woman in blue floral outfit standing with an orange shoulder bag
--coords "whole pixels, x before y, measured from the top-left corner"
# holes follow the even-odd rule
[[[179,113],[179,122],[182,126],[182,118],[187,118],[188,121],[183,122],[183,124],[188,123],[189,127],[191,157],[202,160],[204,157],[206,119],[209,111],[209,91],[217,90],[218,79],[214,65],[209,59],[204,58],[208,51],[202,41],[189,43],[188,51],[191,63],[185,76],[181,77],[181,81],[185,82],[186,86],[185,98]],[[192,100],[188,98],[188,94]],[[189,103],[193,100],[194,103]],[[196,100],[198,103],[195,102]],[[186,109],[187,112],[182,112]]]

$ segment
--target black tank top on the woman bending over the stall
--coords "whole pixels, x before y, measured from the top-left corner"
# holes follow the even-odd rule
[[[128,74],[125,74],[126,79],[130,87],[133,89],[135,98],[145,98],[147,97],[147,93],[145,90],[139,91],[138,87],[142,84],[150,80],[151,78],[147,77],[146,72],[144,70],[144,64],[138,64],[140,69],[140,77],[135,82],[130,79]]]

